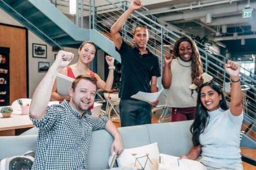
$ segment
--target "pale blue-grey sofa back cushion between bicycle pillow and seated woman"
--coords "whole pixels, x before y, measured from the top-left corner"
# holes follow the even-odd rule
[[[192,147],[189,131],[193,120],[148,124],[150,143],[157,142],[160,153],[180,156]]]

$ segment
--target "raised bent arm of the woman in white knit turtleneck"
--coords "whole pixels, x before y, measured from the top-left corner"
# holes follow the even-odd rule
[[[169,88],[171,85],[171,70],[170,65],[172,61],[172,54],[168,53],[164,56],[164,67],[162,73],[162,85],[165,89]]]

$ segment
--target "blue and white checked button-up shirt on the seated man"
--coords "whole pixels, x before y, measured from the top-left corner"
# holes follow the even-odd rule
[[[91,132],[108,119],[80,116],[68,102],[49,106],[41,119],[30,117],[39,128],[32,169],[87,169]]]

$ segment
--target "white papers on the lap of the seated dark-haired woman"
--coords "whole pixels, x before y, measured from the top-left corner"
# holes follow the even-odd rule
[[[202,170],[202,165],[199,161],[190,159],[179,159],[176,156],[168,154],[159,154],[158,170]]]

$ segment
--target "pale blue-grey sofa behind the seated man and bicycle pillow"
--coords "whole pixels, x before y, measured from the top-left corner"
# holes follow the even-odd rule
[[[159,152],[179,156],[190,150],[192,120],[145,124],[118,128],[124,148],[133,148],[157,142]],[[34,131],[32,132],[34,133]],[[26,133],[28,134],[28,133]],[[35,150],[37,135],[0,136],[0,159]],[[88,169],[107,169],[112,136],[104,129],[92,132],[88,153]],[[114,166],[117,166],[116,162]]]

